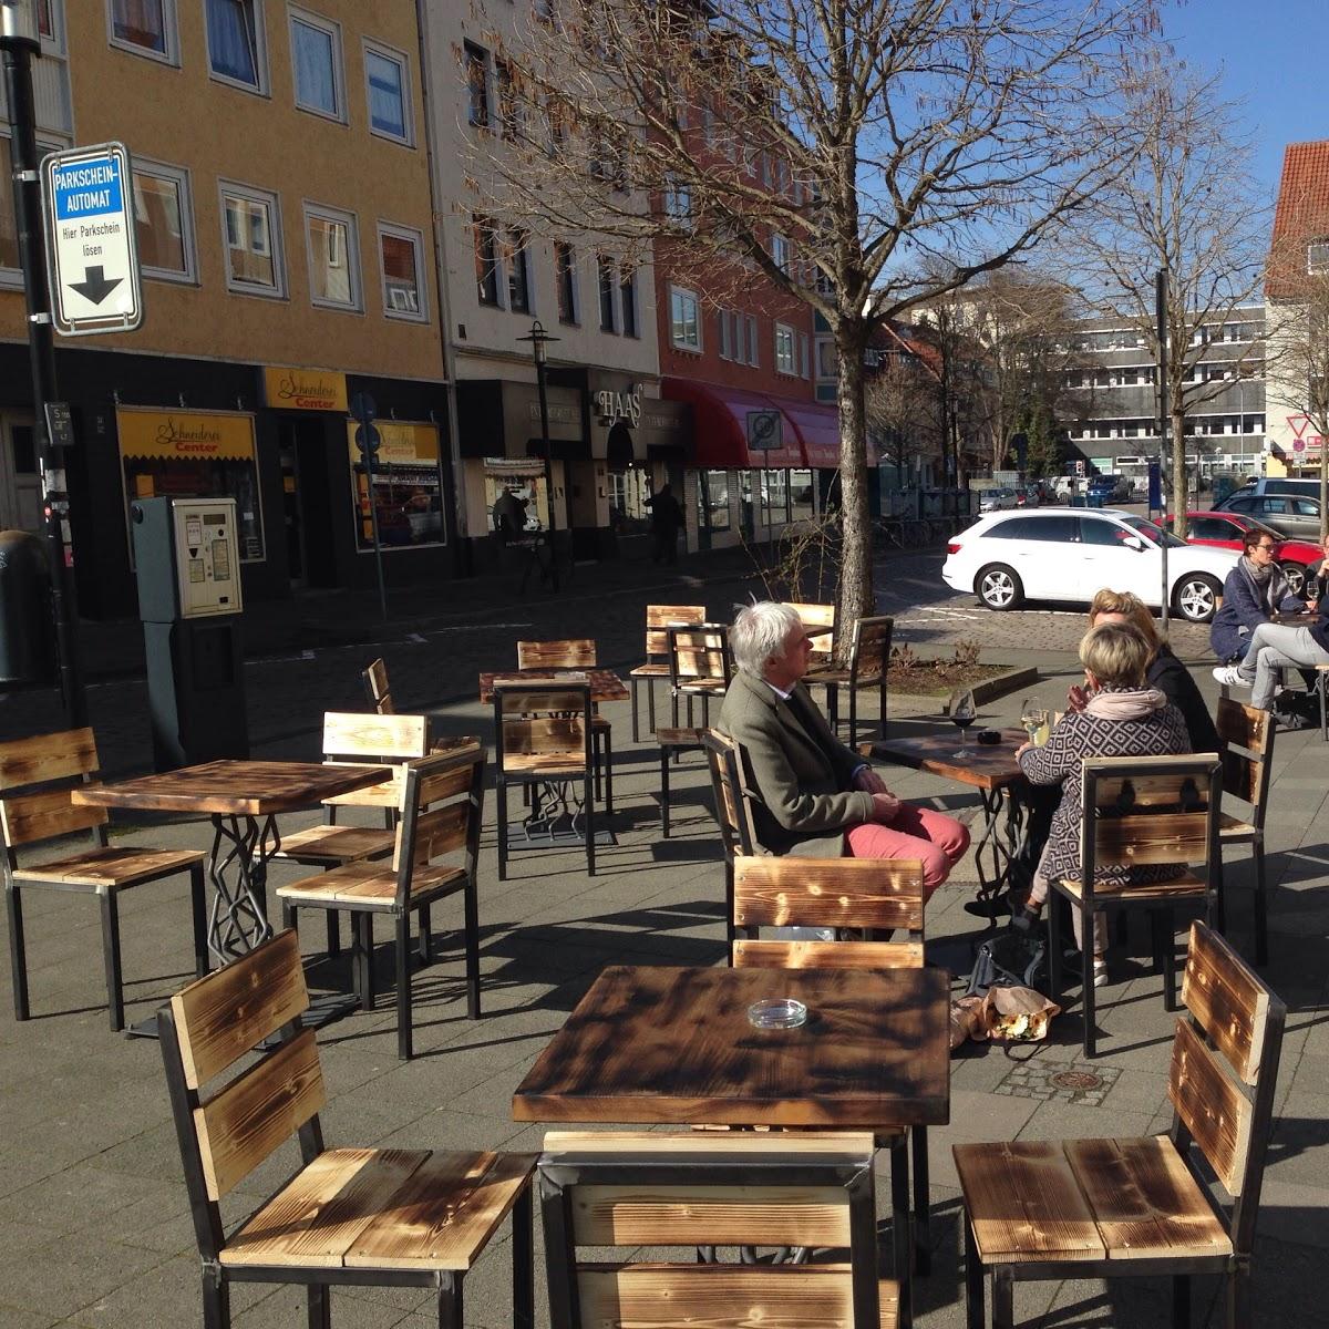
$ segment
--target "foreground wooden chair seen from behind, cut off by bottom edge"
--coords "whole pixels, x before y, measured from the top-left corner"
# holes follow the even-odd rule
[[[893,1329],[872,1158],[872,1136],[848,1132],[550,1131],[540,1195],[553,1329]],[[829,1247],[848,1261],[699,1263],[718,1245]],[[585,1259],[582,1247],[598,1249]]]

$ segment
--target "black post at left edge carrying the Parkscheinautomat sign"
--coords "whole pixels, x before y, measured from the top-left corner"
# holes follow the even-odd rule
[[[47,524],[47,558],[51,563],[52,617],[60,655],[60,695],[69,724],[88,723],[88,699],[74,654],[73,590],[65,569],[64,448],[57,447],[47,424],[47,403],[57,400],[56,351],[47,295],[47,255],[41,226],[41,175],[37,154],[37,116],[32,98],[32,60],[41,56],[36,0],[0,0],[0,60],[9,108],[12,138],[9,165],[13,173],[13,215],[23,266],[23,291],[28,307],[28,360],[32,369],[33,435],[41,473],[41,502]]]

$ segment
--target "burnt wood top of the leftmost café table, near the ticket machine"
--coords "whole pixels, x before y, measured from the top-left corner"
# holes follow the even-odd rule
[[[73,791],[74,803],[149,812],[264,817],[316,808],[324,799],[391,779],[392,767],[319,762],[207,762],[118,784]]]

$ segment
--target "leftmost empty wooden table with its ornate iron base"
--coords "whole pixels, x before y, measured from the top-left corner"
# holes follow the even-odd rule
[[[276,815],[316,808],[324,799],[363,789],[391,776],[392,767],[387,766],[207,762],[118,784],[89,784],[74,791],[73,801],[211,819],[207,874],[214,894],[207,948],[226,964],[272,936],[266,886],[268,860],[282,847]]]

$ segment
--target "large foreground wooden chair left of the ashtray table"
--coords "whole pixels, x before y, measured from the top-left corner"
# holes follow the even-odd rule
[[[294,932],[177,993],[158,1017],[185,1185],[203,1265],[203,1322],[231,1322],[233,1282],[308,1288],[328,1329],[332,1286],[429,1288],[439,1324],[462,1322],[461,1288],[512,1212],[513,1324],[534,1324],[529,1154],[326,1148],[327,1090]],[[262,1047],[229,1083],[205,1086]],[[221,1200],[288,1143],[299,1167],[230,1235]]]

